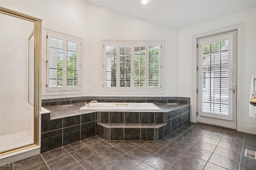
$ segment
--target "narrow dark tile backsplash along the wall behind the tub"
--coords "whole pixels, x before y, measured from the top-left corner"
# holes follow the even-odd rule
[[[72,98],[54,98],[43,99],[42,107],[76,104],[91,102],[97,100],[98,102],[116,102],[116,103],[182,103],[190,104],[190,98],[186,97],[124,97],[124,96],[82,96]]]

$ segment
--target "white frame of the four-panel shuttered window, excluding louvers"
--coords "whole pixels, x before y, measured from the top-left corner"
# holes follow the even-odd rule
[[[116,41],[116,40],[102,40],[102,47],[103,47],[103,62],[102,62],[102,94],[104,93],[112,93],[112,94],[164,94],[164,41]],[[117,46],[117,81],[116,81],[116,87],[106,87],[105,84],[105,61],[106,61],[106,55],[105,55],[105,47],[108,45],[116,45]],[[120,87],[119,83],[119,74],[120,74],[120,68],[119,68],[119,55],[120,55],[120,45],[131,45],[131,86],[130,87]],[[134,86],[134,46],[142,46],[145,45],[145,55],[146,55],[146,67],[145,67],[145,87],[135,87]],[[148,47],[150,45],[155,45],[160,47],[159,55],[159,87],[148,87]]]

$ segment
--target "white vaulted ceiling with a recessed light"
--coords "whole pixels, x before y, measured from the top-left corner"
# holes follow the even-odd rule
[[[86,0],[128,16],[175,29],[256,7],[256,0]]]

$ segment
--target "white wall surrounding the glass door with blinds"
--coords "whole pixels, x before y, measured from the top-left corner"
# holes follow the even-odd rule
[[[252,8],[179,31],[178,95],[191,98],[192,121],[196,121],[196,38],[241,26],[242,32],[240,37],[238,35],[238,50],[242,50],[238,51],[238,130],[256,134],[256,119],[248,114],[250,82],[256,76],[255,25],[256,8]]]

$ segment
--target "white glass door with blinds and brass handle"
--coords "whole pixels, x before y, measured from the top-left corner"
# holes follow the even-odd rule
[[[236,31],[198,39],[198,122],[236,128],[236,42]]]

